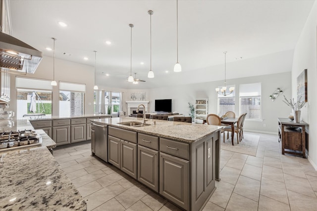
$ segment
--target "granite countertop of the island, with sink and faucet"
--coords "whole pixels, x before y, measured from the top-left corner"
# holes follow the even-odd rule
[[[105,124],[108,126],[118,127],[122,129],[132,130],[150,135],[157,135],[163,138],[170,138],[177,141],[192,143],[203,139],[204,137],[220,130],[221,126],[211,126],[202,124],[182,123],[165,120],[147,119],[146,124],[150,126],[130,127],[120,125],[120,122],[143,122],[143,118],[135,117],[116,117],[110,119],[92,120],[92,123]]]

